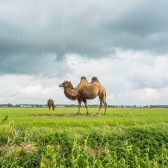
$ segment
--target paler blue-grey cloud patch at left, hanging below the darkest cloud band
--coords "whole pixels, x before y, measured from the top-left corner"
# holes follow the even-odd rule
[[[27,74],[45,77],[61,77],[70,72],[64,65],[64,60],[56,61],[53,53],[47,55],[13,55],[2,57],[0,62],[0,75]]]

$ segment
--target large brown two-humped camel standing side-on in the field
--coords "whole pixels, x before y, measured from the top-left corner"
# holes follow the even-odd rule
[[[64,94],[67,98],[70,100],[76,100],[78,101],[78,112],[80,112],[81,103],[84,102],[85,108],[86,108],[86,114],[88,114],[88,106],[87,106],[87,99],[95,99],[97,96],[99,96],[100,100],[100,106],[97,114],[101,110],[102,104],[104,104],[106,113],[107,109],[107,103],[106,103],[106,90],[105,88],[100,84],[97,77],[93,77],[91,83],[89,83],[86,79],[86,77],[81,77],[80,83],[76,86],[76,88],[73,87],[70,81],[64,81],[62,84],[59,85],[59,87],[64,88]]]

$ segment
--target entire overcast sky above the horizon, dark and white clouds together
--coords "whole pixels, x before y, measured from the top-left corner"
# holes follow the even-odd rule
[[[167,0],[0,0],[0,104],[77,104],[58,85],[81,76],[97,76],[108,104],[167,104],[167,9]]]

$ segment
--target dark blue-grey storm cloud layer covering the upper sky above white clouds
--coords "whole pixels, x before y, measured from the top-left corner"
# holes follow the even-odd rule
[[[36,72],[48,53],[57,61],[115,48],[166,53],[167,9],[165,0],[1,0],[0,72]]]

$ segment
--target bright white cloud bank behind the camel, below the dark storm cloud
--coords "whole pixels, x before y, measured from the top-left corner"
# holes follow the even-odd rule
[[[59,77],[40,75],[5,75],[1,76],[0,101],[9,100],[13,103],[45,103],[53,98],[59,103],[77,104],[68,100],[63,90],[58,87],[64,80],[77,86],[81,76],[90,81],[97,76],[107,90],[108,104],[166,104],[168,98],[168,57],[150,55],[148,52],[123,52],[118,50],[115,55],[87,59],[77,54],[69,54],[55,67],[63,65]],[[52,69],[52,68],[51,68]],[[17,81],[16,81],[17,78]],[[6,84],[8,85],[6,86]],[[10,97],[10,99],[9,99]],[[89,101],[98,104],[98,98]]]

